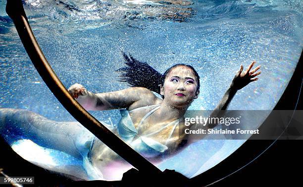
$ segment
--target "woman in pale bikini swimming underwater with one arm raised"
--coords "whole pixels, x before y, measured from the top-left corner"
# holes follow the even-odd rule
[[[119,69],[122,80],[132,87],[109,93],[94,94],[82,85],[74,84],[68,91],[86,109],[94,111],[120,109],[121,119],[116,129],[118,137],[152,163],[161,161],[163,155],[174,155],[190,142],[182,141],[179,134],[184,125],[184,114],[191,103],[198,98],[200,77],[189,65],[177,64],[161,75],[146,63],[123,54],[126,67]],[[237,90],[257,80],[260,66],[253,68],[253,62],[246,71],[243,66],[235,75],[230,87],[211,113],[221,116],[227,109]],[[162,95],[162,99],[152,91]],[[110,127],[108,127],[110,128]],[[181,128],[181,129],[180,129]],[[19,131],[37,144],[47,145],[53,150],[66,152],[83,160],[83,171],[71,172],[66,167],[44,168],[71,174],[86,180],[119,180],[132,166],[78,122],[57,122],[26,110],[0,109],[1,135],[6,130]],[[17,141],[9,134],[5,140],[12,145]],[[105,168],[105,169],[104,169]],[[87,176],[84,177],[83,173]],[[118,176],[118,178],[117,178]]]

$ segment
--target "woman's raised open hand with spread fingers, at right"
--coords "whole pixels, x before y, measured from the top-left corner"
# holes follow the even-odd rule
[[[256,62],[253,61],[253,63],[251,65],[249,65],[248,69],[244,72],[242,72],[243,65],[241,65],[239,72],[235,75],[235,77],[233,79],[231,88],[240,90],[243,87],[245,87],[246,85],[248,85],[250,82],[256,81],[258,79],[258,77],[256,77],[256,76],[260,75],[261,71],[258,71],[258,70],[260,69],[261,66],[257,66],[255,69],[253,69],[251,71],[251,69],[253,68],[253,65],[255,63]]]

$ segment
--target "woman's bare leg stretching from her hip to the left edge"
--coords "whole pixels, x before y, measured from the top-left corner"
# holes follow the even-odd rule
[[[30,139],[36,144],[66,152],[81,158],[89,150],[93,135],[78,122],[57,122],[37,113],[0,109],[0,133],[12,145],[19,139]]]

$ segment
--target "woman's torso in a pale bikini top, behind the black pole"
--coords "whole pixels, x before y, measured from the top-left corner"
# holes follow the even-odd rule
[[[180,123],[180,119],[177,122],[178,119],[175,119],[175,118],[171,118],[169,120],[161,120],[161,118],[159,118],[157,116],[157,112],[156,112],[157,109],[159,109],[161,102],[162,102],[162,99],[158,98],[158,99],[154,100],[153,102],[137,105],[135,107],[131,106],[128,108],[127,112],[131,119],[131,122],[133,123],[134,129],[131,130],[130,135],[128,135],[127,132],[124,132],[124,134],[126,134],[126,136],[132,137],[131,140],[128,140],[127,138],[123,138],[123,137],[122,137],[122,139],[125,142],[127,142],[131,147],[133,147],[133,149],[136,150],[136,148],[134,148],[134,147],[138,146],[138,142],[139,142],[139,147],[142,148],[142,146],[140,145],[142,142],[141,138],[142,137],[145,138],[146,136],[148,136],[148,140],[152,139],[152,141],[155,141],[155,144],[159,143],[160,150],[161,150],[161,148],[162,149],[164,148],[163,146],[166,146],[167,150],[169,150],[169,152],[171,154],[173,154],[175,152],[175,150],[177,150],[177,148],[181,144],[183,135],[179,134],[179,128],[180,128],[180,124],[182,122]],[[142,105],[145,105],[145,106],[142,106]],[[167,118],[169,118],[169,117],[167,117]],[[123,120],[123,116],[122,116],[122,120]],[[127,121],[126,119],[124,119],[124,120]],[[119,123],[121,123],[121,121]],[[176,124],[178,124],[178,125],[176,125]],[[123,129],[125,128],[124,127],[125,124],[118,124],[118,125],[122,125],[122,131],[124,131]],[[128,124],[128,125],[130,125],[130,124]],[[184,125],[181,125],[181,126],[184,126]],[[119,127],[117,129],[119,129]],[[129,130],[129,128],[127,128],[127,130]],[[135,132],[133,133],[132,131],[137,131],[137,133],[135,133]],[[154,132],[156,132],[156,133],[154,133]],[[120,132],[120,133],[117,132],[117,134],[121,138],[121,135],[119,135],[119,134],[123,134],[123,132]],[[140,140],[140,141],[138,141],[138,140]],[[146,138],[144,140],[146,140]],[[142,145],[145,145],[145,147],[148,147],[144,143]],[[152,147],[153,147],[153,145],[152,145]],[[161,145],[163,145],[163,146],[161,146]],[[149,160],[151,160],[151,161],[159,160],[158,155],[161,152],[158,152],[159,150],[157,150],[157,149],[154,151],[155,153],[152,152],[151,155],[148,156]],[[157,152],[159,154],[157,154]],[[141,152],[139,151],[139,153],[141,153]],[[102,166],[104,167],[112,161],[122,161],[122,158],[120,156],[118,156],[115,152],[113,152],[108,147],[106,147],[98,139],[96,139],[96,141],[93,145],[90,156],[91,156],[92,162],[95,165],[98,165],[99,167],[102,167]]]

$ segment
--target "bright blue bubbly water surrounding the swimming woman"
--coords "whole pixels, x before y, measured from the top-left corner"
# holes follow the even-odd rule
[[[24,0],[33,32],[62,83],[92,92],[127,88],[114,72],[121,51],[161,73],[177,63],[201,76],[190,109],[212,110],[240,65],[261,65],[259,80],[240,90],[230,110],[272,110],[303,48],[302,0]],[[0,107],[27,109],[49,119],[74,121],[28,58],[0,0]],[[114,124],[118,111],[91,112]],[[257,121],[257,125],[261,124]],[[213,167],[245,141],[205,140],[162,163],[193,177]],[[197,163],[184,166],[189,155]],[[181,160],[181,161],[180,161]]]

